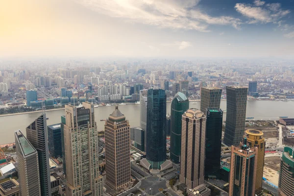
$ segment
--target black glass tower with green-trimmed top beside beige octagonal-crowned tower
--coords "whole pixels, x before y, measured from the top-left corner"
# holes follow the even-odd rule
[[[205,177],[220,179],[222,110],[207,108]]]

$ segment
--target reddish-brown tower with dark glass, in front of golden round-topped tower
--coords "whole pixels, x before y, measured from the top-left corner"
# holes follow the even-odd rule
[[[248,147],[246,137],[231,148],[229,196],[254,196],[258,148]]]

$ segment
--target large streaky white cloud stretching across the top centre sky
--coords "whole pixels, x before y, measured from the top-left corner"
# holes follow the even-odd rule
[[[230,16],[211,17],[197,8],[200,0],[74,0],[83,6],[126,22],[161,28],[209,32],[209,25],[232,25],[242,21]]]

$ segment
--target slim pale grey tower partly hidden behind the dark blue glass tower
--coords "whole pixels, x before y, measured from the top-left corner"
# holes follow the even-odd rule
[[[144,149],[147,142],[147,94],[148,90],[140,91],[140,127],[144,131]]]

